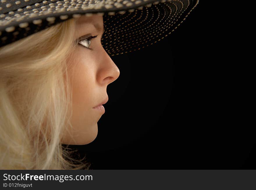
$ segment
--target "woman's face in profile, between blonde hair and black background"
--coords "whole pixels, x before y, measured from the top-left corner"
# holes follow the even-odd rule
[[[96,25],[96,27],[94,26]],[[97,27],[98,26],[98,27]],[[108,101],[107,85],[115,81],[120,71],[101,44],[103,17],[94,14],[77,20],[75,39],[95,39],[77,44],[76,60],[69,58],[69,80],[72,87],[72,128],[65,132],[62,143],[84,145],[92,142],[98,134],[97,122],[104,114]],[[88,49],[90,48],[90,49]],[[99,106],[99,107],[97,107]],[[95,108],[96,107],[96,108]]]

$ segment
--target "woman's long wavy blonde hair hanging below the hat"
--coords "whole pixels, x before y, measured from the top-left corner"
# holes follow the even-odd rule
[[[0,48],[0,169],[88,169],[61,144],[71,126],[75,21]]]

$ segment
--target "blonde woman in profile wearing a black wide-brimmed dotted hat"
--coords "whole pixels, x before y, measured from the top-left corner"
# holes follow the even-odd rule
[[[1,2],[1,169],[88,168],[64,144],[96,138],[107,85],[120,74],[109,55],[163,39],[198,3]]]

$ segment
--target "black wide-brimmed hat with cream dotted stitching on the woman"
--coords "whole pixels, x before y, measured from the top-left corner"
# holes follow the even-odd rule
[[[199,0],[0,0],[0,47],[68,19],[103,16],[111,55],[140,50],[173,32]]]

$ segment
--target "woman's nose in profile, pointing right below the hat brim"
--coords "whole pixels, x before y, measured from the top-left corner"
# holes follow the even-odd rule
[[[102,85],[108,85],[115,81],[119,77],[119,75],[120,70],[115,65],[110,56],[107,54],[107,52],[104,50],[104,55],[102,56],[101,60],[101,67],[99,68],[97,74],[98,82]]]

